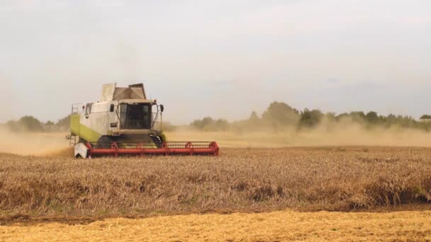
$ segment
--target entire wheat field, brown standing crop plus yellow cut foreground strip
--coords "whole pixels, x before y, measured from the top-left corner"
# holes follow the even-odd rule
[[[426,241],[431,149],[0,154],[0,241]]]

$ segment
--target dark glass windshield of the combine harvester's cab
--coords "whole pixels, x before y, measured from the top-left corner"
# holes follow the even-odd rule
[[[120,105],[120,129],[151,129],[151,117],[151,105]]]

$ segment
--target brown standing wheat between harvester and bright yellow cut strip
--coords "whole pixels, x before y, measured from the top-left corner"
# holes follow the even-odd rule
[[[0,217],[147,216],[429,204],[431,149],[223,149],[220,157],[0,154]]]

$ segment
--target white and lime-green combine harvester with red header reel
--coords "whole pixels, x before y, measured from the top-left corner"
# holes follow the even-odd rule
[[[81,110],[82,108],[82,110]],[[147,99],[142,83],[119,88],[103,85],[97,103],[74,104],[69,144],[84,159],[101,155],[213,155],[216,142],[168,142],[162,130],[163,105]]]

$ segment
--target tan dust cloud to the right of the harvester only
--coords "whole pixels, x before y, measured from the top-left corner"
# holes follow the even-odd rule
[[[247,130],[247,129],[245,129]],[[196,132],[180,129],[168,133],[171,141],[216,141],[221,147],[279,148],[286,146],[431,146],[431,133],[402,127],[366,128],[353,122],[323,122],[313,129]]]

